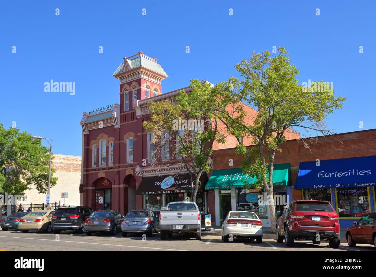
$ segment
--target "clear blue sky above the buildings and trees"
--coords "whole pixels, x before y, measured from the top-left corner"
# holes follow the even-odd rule
[[[347,97],[329,127],[358,131],[362,121],[376,128],[373,1],[232,2],[2,1],[0,122],[52,138],[56,154],[81,155],[82,112],[119,102],[112,73],[124,56],[158,58],[168,92],[193,78],[216,84],[238,76],[234,64],[252,50],[284,46],[299,83],[333,82],[335,94]],[[76,94],[45,93],[50,79],[76,82]]]

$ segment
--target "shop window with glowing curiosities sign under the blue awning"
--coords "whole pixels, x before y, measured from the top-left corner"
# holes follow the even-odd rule
[[[358,218],[370,212],[367,187],[349,187],[337,190],[340,217]]]

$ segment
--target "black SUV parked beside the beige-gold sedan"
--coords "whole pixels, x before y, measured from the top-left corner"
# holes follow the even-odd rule
[[[60,234],[65,230],[77,230],[78,233],[84,233],[83,224],[92,213],[93,210],[86,206],[58,208],[52,216],[51,229],[55,234]]]

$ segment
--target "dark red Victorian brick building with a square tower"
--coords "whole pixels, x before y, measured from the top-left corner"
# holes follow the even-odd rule
[[[142,127],[150,118],[149,101],[174,102],[179,90],[162,94],[161,81],[167,78],[157,59],[139,52],[124,58],[113,76],[120,81],[119,101],[108,107],[83,113],[82,126],[82,180],[81,203],[92,209],[115,209],[122,215],[130,209],[159,210],[170,201],[190,196],[184,168],[168,166],[176,161],[172,145],[164,148],[163,165],[152,166],[152,133]],[[189,79],[187,77],[187,79]],[[189,91],[190,87],[180,90]],[[249,120],[257,111],[247,107]],[[223,129],[224,126],[220,125]],[[296,134],[292,134],[296,137]],[[214,149],[235,146],[237,139],[227,136],[224,145],[215,143]],[[249,145],[250,140],[245,140]],[[171,155],[170,155],[171,153]],[[179,172],[179,177],[172,177]],[[202,212],[214,212],[214,195],[205,191],[204,174],[197,204]],[[161,189],[163,181],[174,180],[176,186]]]

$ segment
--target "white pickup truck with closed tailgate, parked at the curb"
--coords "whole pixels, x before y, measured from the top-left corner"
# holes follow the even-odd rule
[[[190,233],[201,240],[201,213],[195,202],[170,202],[166,208],[159,213],[161,239],[173,233]]]

